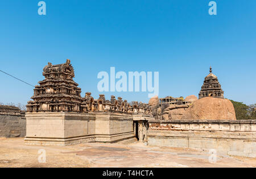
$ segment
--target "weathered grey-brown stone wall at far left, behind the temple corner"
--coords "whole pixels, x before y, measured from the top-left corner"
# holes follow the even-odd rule
[[[0,105],[0,137],[15,138],[25,135],[25,113],[18,107]]]

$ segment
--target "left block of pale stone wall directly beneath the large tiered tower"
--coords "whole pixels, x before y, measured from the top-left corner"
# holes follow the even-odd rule
[[[95,115],[74,112],[26,113],[28,144],[71,145],[95,141]]]

